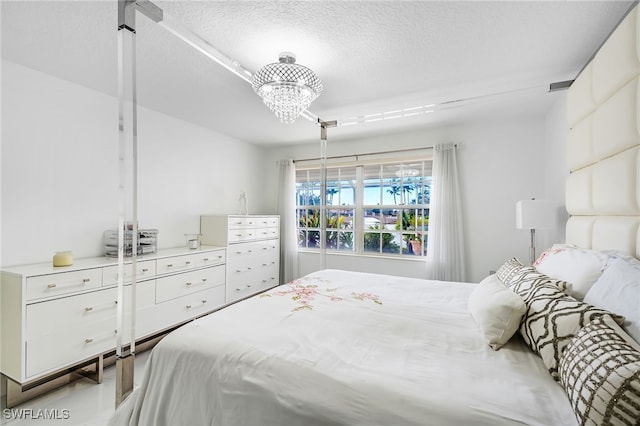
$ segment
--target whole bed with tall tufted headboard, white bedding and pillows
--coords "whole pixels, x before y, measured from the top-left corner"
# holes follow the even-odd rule
[[[323,270],[154,348],[111,424],[640,424],[637,8],[567,95],[566,241],[481,283]]]

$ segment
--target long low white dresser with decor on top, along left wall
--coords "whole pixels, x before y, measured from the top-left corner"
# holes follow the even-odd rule
[[[224,247],[139,257],[136,339],[223,306],[225,262]],[[125,279],[131,264],[128,269]],[[114,349],[117,259],[78,259],[60,268],[50,263],[7,267],[1,278],[1,371],[16,383],[33,382]],[[130,283],[125,291],[131,291]],[[129,331],[124,333],[128,341]]]

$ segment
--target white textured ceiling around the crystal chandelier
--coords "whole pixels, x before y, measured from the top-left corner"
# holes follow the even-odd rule
[[[573,79],[633,2],[153,3],[249,70],[294,52],[323,81],[310,108],[323,120],[441,104],[332,130],[340,139],[543,114],[549,83]],[[2,56],[115,96],[116,12],[116,0],[2,1]],[[318,139],[315,124],[281,124],[247,82],[140,14],[136,30],[140,104],[257,144]]]

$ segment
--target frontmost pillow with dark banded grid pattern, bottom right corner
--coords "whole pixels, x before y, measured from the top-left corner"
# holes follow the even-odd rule
[[[580,425],[640,423],[640,345],[608,316],[575,335],[559,374]]]

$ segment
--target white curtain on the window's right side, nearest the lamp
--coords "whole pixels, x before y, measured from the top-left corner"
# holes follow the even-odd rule
[[[454,144],[434,147],[426,262],[432,280],[466,280],[456,150]]]

